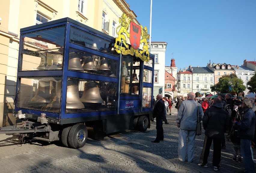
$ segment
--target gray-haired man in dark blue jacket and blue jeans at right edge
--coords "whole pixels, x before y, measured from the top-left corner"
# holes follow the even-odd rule
[[[241,139],[241,155],[245,163],[246,173],[254,173],[254,162],[252,159],[251,140],[254,138],[255,130],[255,113],[252,111],[252,103],[250,100],[243,101],[243,116],[238,123],[234,122],[234,129],[238,129],[238,138]]]

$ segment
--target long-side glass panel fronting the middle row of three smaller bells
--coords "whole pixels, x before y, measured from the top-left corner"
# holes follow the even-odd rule
[[[68,69],[71,71],[117,77],[118,62],[81,50],[69,48]]]

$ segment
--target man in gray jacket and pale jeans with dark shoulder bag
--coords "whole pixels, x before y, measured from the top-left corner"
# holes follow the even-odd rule
[[[181,162],[185,162],[187,157],[188,162],[194,159],[194,145],[197,128],[197,102],[195,102],[195,93],[188,93],[187,100],[181,103],[177,115],[177,127],[180,128],[178,156]],[[198,103],[199,104],[199,103]],[[203,118],[203,109],[199,104],[200,121]]]

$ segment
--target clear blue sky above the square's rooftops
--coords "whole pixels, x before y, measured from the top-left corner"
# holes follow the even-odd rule
[[[151,0],[126,0],[150,28]],[[255,0],[152,0],[151,42],[166,42],[165,66],[243,64],[256,59]],[[173,53],[173,55],[172,55]]]

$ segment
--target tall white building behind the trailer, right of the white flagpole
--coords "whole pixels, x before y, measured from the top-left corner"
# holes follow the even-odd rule
[[[153,96],[161,93],[164,96],[164,79],[165,79],[165,51],[166,42],[151,42],[151,51],[155,55],[154,66],[154,90]]]

